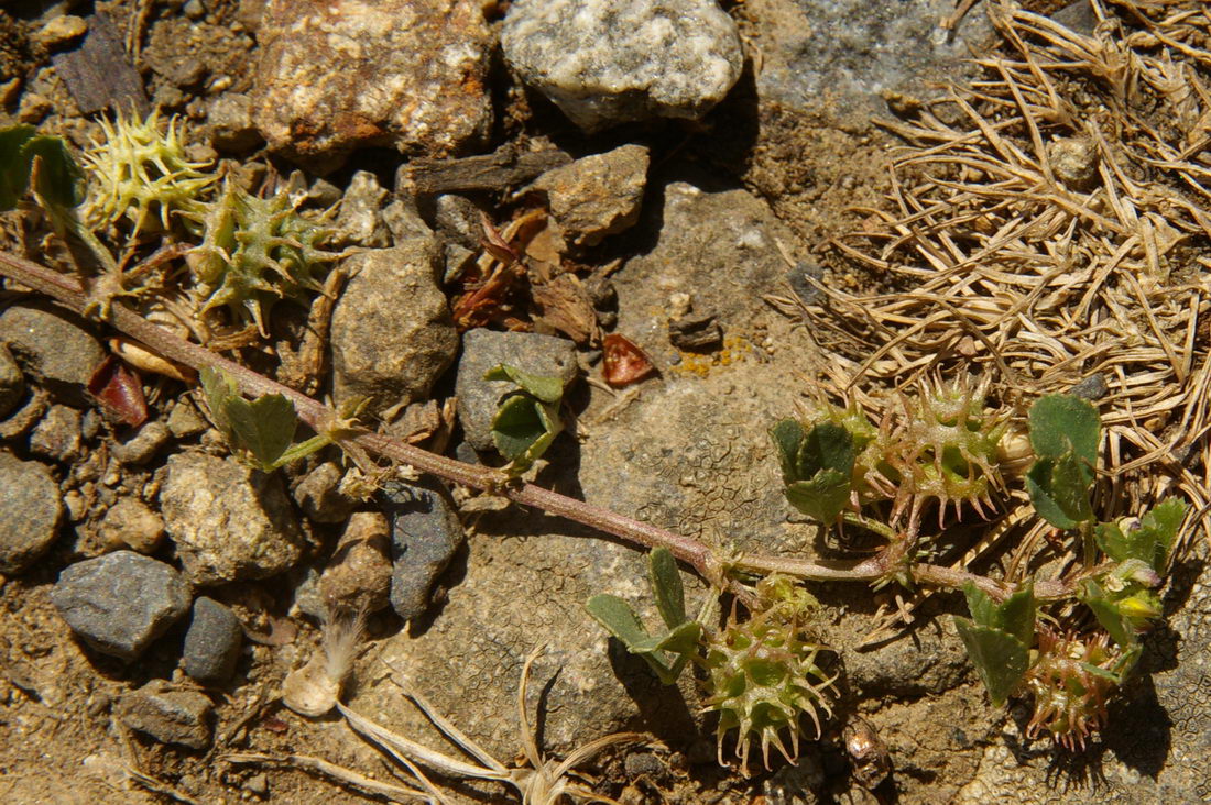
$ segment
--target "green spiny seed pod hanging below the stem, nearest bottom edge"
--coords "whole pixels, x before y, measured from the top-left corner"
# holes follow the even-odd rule
[[[799,754],[800,718],[807,713],[820,735],[817,708],[832,714],[828,691],[836,677],[816,665],[823,646],[807,639],[803,629],[782,616],[782,608],[757,613],[746,622],[735,614],[721,634],[707,640],[707,711],[719,714],[717,729],[719,765],[723,765],[724,737],[735,730],[736,757],[741,769],[748,765],[752,740],[761,740],[762,759],[769,767],[769,747],[777,747],[787,760]],[[791,735],[787,751],[781,732]]]

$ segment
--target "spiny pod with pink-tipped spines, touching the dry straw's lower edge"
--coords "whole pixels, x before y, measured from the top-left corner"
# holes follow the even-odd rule
[[[880,427],[888,464],[900,476],[893,519],[912,504],[916,519],[922,505],[937,499],[939,523],[946,507],[962,502],[983,516],[992,506],[992,489],[1004,484],[998,448],[1006,424],[985,410],[987,380],[975,389],[924,384],[914,402],[903,399],[905,416],[895,427]]]

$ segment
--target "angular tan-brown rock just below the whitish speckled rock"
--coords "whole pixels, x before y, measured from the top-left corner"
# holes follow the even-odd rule
[[[639,219],[648,149],[622,145],[547,171],[532,185],[546,194],[556,223],[578,246],[596,246]]]

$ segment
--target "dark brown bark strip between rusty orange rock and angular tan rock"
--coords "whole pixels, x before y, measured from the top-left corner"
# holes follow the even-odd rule
[[[417,192],[465,192],[467,190],[504,191],[529,182],[551,168],[572,162],[557,149],[518,154],[503,145],[492,154],[457,160],[415,160],[403,168]]]

